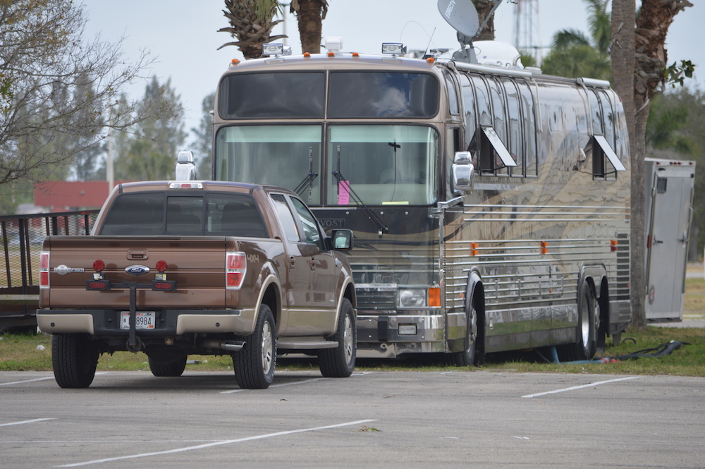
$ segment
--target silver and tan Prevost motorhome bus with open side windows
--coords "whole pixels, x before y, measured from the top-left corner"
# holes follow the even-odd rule
[[[212,176],[296,190],[355,231],[361,357],[577,360],[618,340],[630,162],[609,84],[388,49],[233,61]]]

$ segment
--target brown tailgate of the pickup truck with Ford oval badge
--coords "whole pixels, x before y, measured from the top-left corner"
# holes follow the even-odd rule
[[[93,278],[93,263],[105,263],[103,275],[111,284],[140,282],[151,284],[157,274],[157,262],[165,261],[167,279],[176,281],[175,291],[137,291],[137,307],[226,307],[226,250],[236,250],[238,243],[219,237],[105,237],[50,236],[44,250],[50,252],[49,285],[39,295],[40,307],[127,308],[128,288],[111,291],[86,291],[86,281]],[[125,272],[130,266],[142,266],[148,273]],[[79,293],[80,292],[80,293]],[[229,301],[228,301],[229,303]]]

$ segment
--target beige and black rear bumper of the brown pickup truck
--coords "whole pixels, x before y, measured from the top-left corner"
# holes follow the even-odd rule
[[[161,310],[156,312],[154,329],[137,329],[137,335],[247,335],[252,332],[254,317],[254,310]],[[121,329],[121,311],[116,310],[37,310],[37,325],[48,334],[85,333],[97,337],[129,334],[129,329]]]

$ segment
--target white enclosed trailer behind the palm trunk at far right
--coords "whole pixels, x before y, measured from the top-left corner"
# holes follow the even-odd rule
[[[646,158],[646,319],[681,321],[695,162]]]

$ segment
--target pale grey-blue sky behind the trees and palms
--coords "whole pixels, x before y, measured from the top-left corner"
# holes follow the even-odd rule
[[[186,109],[186,130],[198,125],[202,99],[215,91],[230,61],[243,59],[237,47],[217,50],[233,40],[227,32],[218,32],[228,26],[223,16],[223,0],[82,0],[82,3],[89,16],[87,38],[100,35],[111,42],[122,38],[123,58],[128,62],[135,62],[142,50],[157,57],[145,75],[156,75],[161,83],[171,79]],[[403,42],[408,49],[427,49],[430,44],[431,48],[454,51],[459,47],[455,30],[443,19],[436,3],[436,0],[329,0],[323,36],[343,37],[343,51],[368,54],[378,54],[382,42]],[[692,3],[692,8],[675,17],[666,38],[666,49],[669,65],[687,59],[699,66],[694,81],[703,87],[705,47],[694,36],[702,37],[697,31],[705,21],[705,1]],[[515,5],[505,0],[496,11],[496,40],[514,43],[514,9]],[[583,0],[534,1],[532,13],[534,46],[550,45],[558,30],[576,29],[589,35]],[[274,34],[288,35],[287,43],[293,54],[301,53],[295,16],[287,14],[286,21],[276,26]],[[144,90],[142,81],[127,92],[137,99]]]

